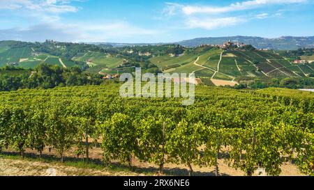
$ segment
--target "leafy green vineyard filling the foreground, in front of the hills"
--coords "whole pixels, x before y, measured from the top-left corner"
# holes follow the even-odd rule
[[[203,72],[202,72],[203,73]],[[0,148],[22,157],[44,148],[63,157],[75,149],[89,159],[95,146],[103,163],[216,166],[218,159],[253,175],[280,175],[292,161],[313,175],[314,95],[299,90],[232,90],[197,86],[195,104],[180,99],[119,96],[119,84],[0,93]]]

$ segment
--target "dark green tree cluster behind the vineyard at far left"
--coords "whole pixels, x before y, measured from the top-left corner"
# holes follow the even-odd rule
[[[12,70],[21,74],[10,74]],[[0,75],[0,91],[22,88],[54,88],[56,86],[99,85],[99,74],[87,74],[80,68],[60,68],[57,65],[40,64],[33,71],[23,72],[21,68],[3,68]]]

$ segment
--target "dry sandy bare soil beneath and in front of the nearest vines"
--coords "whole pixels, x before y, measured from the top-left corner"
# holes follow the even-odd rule
[[[91,163],[96,168],[89,166],[76,166],[75,161],[82,162],[82,159],[76,159],[74,152],[70,151],[66,155],[66,163],[60,163],[58,157],[54,157],[55,152],[45,150],[43,161],[36,159],[36,152],[27,151],[26,159],[17,157],[17,152],[3,150],[4,157],[0,157],[0,176],[141,176],[141,175],[158,175],[158,166],[149,163],[142,163],[137,159],[133,159],[133,171],[117,161],[112,162],[114,168],[105,168],[101,165],[102,152],[100,148],[91,150]],[[14,155],[13,158],[9,157]],[[8,157],[6,157],[8,156]],[[50,160],[50,161],[47,161]],[[69,166],[67,163],[72,163]],[[193,166],[195,175],[197,176],[214,176],[214,167]],[[281,166],[282,176],[302,176],[297,166],[291,163],[284,163]],[[219,160],[220,175],[225,176],[244,176],[245,173],[235,170],[221,159]],[[176,164],[165,164],[165,175],[186,176],[188,175],[188,167]],[[255,173],[255,175],[257,175]]]

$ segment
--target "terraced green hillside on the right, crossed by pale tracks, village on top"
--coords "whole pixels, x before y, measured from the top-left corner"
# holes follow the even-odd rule
[[[273,51],[194,49],[182,56],[158,56],[150,61],[164,72],[195,73],[195,77],[234,81],[238,77],[308,77],[314,64],[294,64]]]

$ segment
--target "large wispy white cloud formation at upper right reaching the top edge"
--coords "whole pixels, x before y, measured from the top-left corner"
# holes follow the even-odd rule
[[[256,13],[250,13],[244,10],[264,8],[265,6],[306,3],[308,1],[309,0],[251,0],[231,3],[227,6],[197,6],[183,3],[166,3],[163,14],[166,14],[167,17],[179,16],[180,19],[177,20],[181,20],[189,29],[202,28],[213,30],[242,24],[251,19],[271,17],[270,13],[256,15]],[[237,11],[240,13],[234,15],[234,12]]]

